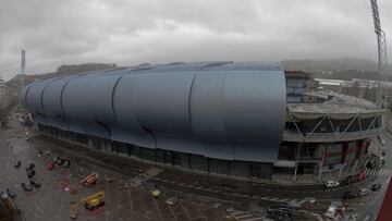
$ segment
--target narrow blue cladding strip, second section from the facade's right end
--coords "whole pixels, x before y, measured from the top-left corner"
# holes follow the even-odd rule
[[[222,118],[225,76],[224,72],[199,72],[192,87],[189,112],[193,134],[203,144],[204,155],[233,160],[233,145]]]

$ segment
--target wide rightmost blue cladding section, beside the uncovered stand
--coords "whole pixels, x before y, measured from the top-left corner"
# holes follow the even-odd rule
[[[268,162],[278,156],[285,115],[279,72],[236,71],[225,78],[223,121],[235,160]],[[260,87],[260,83],[262,87]],[[282,94],[284,93],[284,95]]]

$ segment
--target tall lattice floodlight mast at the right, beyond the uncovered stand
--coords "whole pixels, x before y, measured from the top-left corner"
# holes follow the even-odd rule
[[[377,0],[370,0],[375,33],[377,35],[377,47],[378,47],[378,77],[377,77],[377,106],[380,108],[387,108],[387,91],[382,89],[382,78],[388,72],[388,60],[387,60],[387,39],[385,33],[381,29],[380,14],[378,11]]]

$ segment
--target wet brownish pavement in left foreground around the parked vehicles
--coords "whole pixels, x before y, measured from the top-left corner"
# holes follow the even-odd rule
[[[136,168],[130,173],[114,170],[105,162],[94,162],[94,159],[69,155],[53,147],[46,140],[23,139],[24,134],[13,130],[0,130],[0,188],[11,188],[16,193],[17,206],[24,212],[26,220],[70,220],[70,202],[78,201],[99,191],[106,192],[106,205],[96,211],[78,208],[77,220],[226,220],[232,219],[222,207],[222,200],[203,197],[180,198],[175,204],[166,202],[175,193],[164,191],[161,198],[154,198],[154,184],[143,181],[134,187],[135,177],[143,174],[143,168]],[[48,151],[48,154],[47,154]],[[39,154],[42,152],[42,154]],[[47,163],[54,157],[62,156],[71,160],[70,168],[57,167],[49,171]],[[17,169],[14,163],[21,160]],[[41,187],[25,193],[22,182],[28,182],[25,171],[27,161],[35,163],[36,180]],[[91,172],[99,174],[98,183],[85,187],[79,181]],[[70,186],[77,186],[75,195],[70,194]],[[229,216],[229,217],[228,217]]]

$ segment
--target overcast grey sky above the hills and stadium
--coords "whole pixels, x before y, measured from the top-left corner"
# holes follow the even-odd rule
[[[0,77],[69,63],[376,60],[369,0],[0,0]],[[392,42],[392,1],[379,0]],[[391,51],[391,50],[390,50]],[[390,56],[391,58],[392,56]]]

